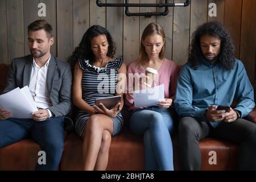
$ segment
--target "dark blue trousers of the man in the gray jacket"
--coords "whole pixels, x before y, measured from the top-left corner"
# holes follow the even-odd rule
[[[64,150],[63,123],[63,117],[49,118],[43,122],[17,118],[2,120],[0,121],[0,148],[32,137],[41,150],[46,152],[46,164],[37,163],[35,169],[55,170],[59,166]]]

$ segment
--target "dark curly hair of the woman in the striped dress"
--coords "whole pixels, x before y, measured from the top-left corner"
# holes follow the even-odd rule
[[[88,28],[88,30],[82,36],[82,40],[79,46],[76,47],[72,55],[68,57],[68,63],[71,65],[72,71],[74,71],[75,65],[79,60],[89,60],[90,63],[93,63],[95,61],[95,56],[91,49],[90,43],[92,38],[98,35],[106,35],[109,44],[107,56],[110,58],[114,57],[115,43],[113,42],[113,38],[110,35],[109,31],[106,30],[106,28],[104,27],[94,25]]]

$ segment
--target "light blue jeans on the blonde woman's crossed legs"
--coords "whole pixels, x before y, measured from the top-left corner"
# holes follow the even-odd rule
[[[131,112],[131,131],[144,137],[146,170],[174,170],[171,140],[173,126],[168,109],[153,106]]]

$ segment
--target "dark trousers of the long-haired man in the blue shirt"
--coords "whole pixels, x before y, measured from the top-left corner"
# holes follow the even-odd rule
[[[199,140],[218,138],[240,145],[238,170],[256,170],[256,125],[245,119],[221,122],[215,129],[207,122],[192,117],[181,118],[179,123],[180,164],[183,170],[200,170]]]

